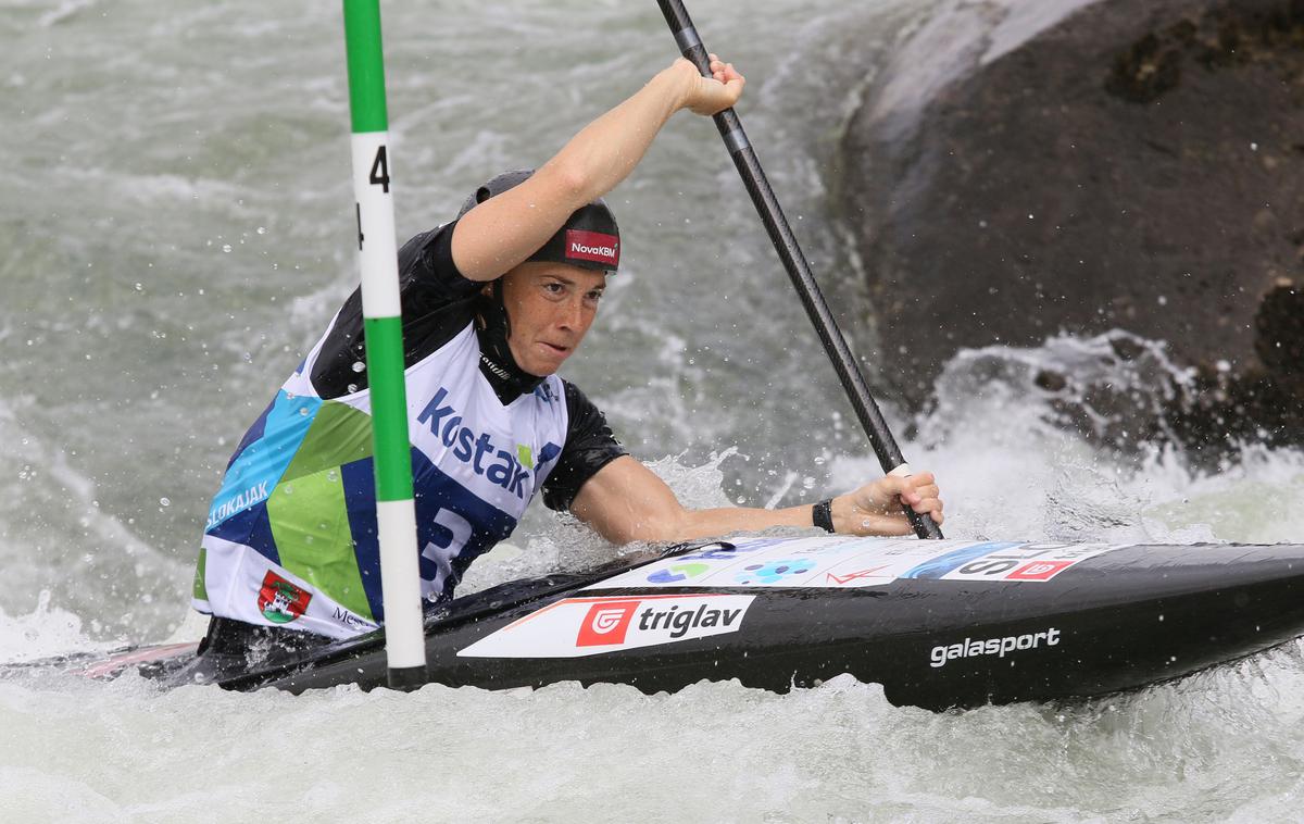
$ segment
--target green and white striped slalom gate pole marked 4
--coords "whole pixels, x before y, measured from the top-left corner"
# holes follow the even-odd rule
[[[372,395],[376,455],[376,520],[385,600],[389,683],[425,683],[421,570],[412,502],[412,452],[403,385],[403,319],[399,308],[394,198],[390,196],[389,116],[379,0],[344,0],[348,107],[353,120],[353,197],[363,270],[363,334]]]

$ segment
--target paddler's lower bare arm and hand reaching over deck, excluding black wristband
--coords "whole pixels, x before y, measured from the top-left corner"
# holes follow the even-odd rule
[[[901,511],[902,501],[915,512],[928,512],[940,525],[938,495],[938,485],[928,472],[910,477],[885,476],[833,498],[833,529],[848,535],[910,535],[910,523]],[[613,544],[690,541],[737,531],[814,525],[811,505],[782,510],[686,508],[665,481],[629,455],[617,458],[591,477],[575,495],[571,512]]]

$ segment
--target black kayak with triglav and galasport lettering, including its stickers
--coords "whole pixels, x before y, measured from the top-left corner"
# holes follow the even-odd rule
[[[280,630],[291,632],[289,627]],[[932,709],[1134,690],[1304,635],[1304,546],[737,538],[512,581],[426,617],[429,681],[778,692],[850,673]],[[168,684],[386,684],[383,630],[347,641],[78,661]]]

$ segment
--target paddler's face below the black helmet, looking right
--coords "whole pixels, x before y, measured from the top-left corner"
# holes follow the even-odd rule
[[[567,263],[526,261],[502,276],[516,365],[544,377],[561,369],[597,314],[606,275]]]

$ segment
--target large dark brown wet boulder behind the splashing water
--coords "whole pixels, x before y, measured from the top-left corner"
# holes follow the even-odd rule
[[[1124,330],[1175,432],[1304,441],[1304,1],[957,0],[880,78],[831,177],[896,392]]]

